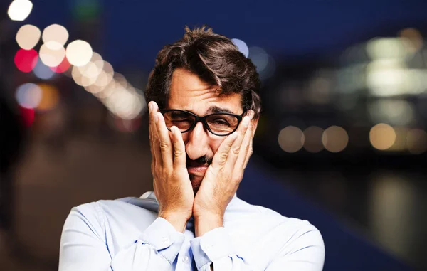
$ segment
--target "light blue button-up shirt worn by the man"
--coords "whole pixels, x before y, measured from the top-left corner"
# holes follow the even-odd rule
[[[223,228],[195,238],[192,220],[180,233],[157,217],[154,193],[73,208],[60,240],[60,271],[320,271],[319,230],[297,218],[235,196]]]

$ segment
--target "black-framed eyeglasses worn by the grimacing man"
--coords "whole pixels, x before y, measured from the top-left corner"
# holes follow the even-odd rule
[[[224,112],[199,117],[191,112],[177,109],[160,110],[160,112],[169,131],[172,126],[176,126],[181,133],[189,132],[196,127],[197,122],[201,122],[205,129],[221,137],[236,131],[238,124],[242,121],[243,114],[245,114],[245,112],[242,115]]]

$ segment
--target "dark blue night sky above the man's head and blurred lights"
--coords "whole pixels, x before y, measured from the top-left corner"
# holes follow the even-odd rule
[[[33,1],[24,23],[41,29],[59,23],[73,33],[70,7],[75,2]],[[393,30],[389,34],[395,34],[395,29],[427,26],[427,1],[422,0],[104,0],[100,4],[102,48],[94,46],[94,51],[113,65],[141,68],[151,67],[159,49],[180,38],[185,25],[207,24],[276,57],[341,50],[387,27]],[[80,37],[77,33],[70,38]]]

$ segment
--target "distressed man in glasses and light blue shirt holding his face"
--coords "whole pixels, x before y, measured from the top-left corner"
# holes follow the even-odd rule
[[[236,197],[260,115],[255,66],[186,28],[149,75],[154,193],[73,208],[59,270],[322,270],[319,231]]]

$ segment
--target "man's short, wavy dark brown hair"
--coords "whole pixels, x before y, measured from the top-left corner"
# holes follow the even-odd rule
[[[238,51],[231,39],[214,33],[211,28],[190,30],[186,27],[185,30],[179,41],[159,51],[145,90],[147,102],[157,102],[164,108],[169,99],[172,73],[176,68],[184,68],[206,83],[218,85],[223,94],[240,93],[243,110],[253,110],[255,117],[259,117],[260,79],[252,61]]]

